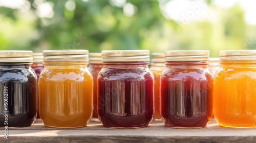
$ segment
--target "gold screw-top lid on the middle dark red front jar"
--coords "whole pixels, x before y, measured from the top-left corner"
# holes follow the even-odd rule
[[[149,62],[149,50],[103,50],[102,62]]]

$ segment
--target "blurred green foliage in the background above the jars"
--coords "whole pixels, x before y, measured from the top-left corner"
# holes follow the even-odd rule
[[[123,8],[111,5],[111,1],[77,0],[75,9],[70,11],[65,7],[67,0],[52,0],[47,1],[53,4],[51,18],[39,18],[34,1],[29,2],[28,11],[0,7],[1,50],[206,49],[211,56],[219,56],[219,50],[256,46],[252,32],[255,26],[246,25],[238,5],[220,9],[207,1],[215,9],[218,22],[181,24],[166,19],[157,0],[127,0],[126,3],[137,7],[133,16],[124,15]]]

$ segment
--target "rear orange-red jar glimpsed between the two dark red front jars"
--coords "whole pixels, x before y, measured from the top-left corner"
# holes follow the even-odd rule
[[[160,75],[165,69],[165,56],[164,53],[152,53],[150,70],[155,76],[155,113],[154,120],[161,120],[160,114]]]

